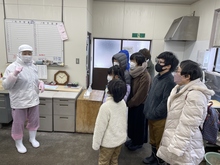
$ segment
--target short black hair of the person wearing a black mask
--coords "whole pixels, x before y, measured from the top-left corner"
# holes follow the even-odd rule
[[[157,59],[159,58],[164,59],[165,65],[171,65],[171,72],[173,72],[179,64],[179,60],[172,52],[163,52],[157,56]]]

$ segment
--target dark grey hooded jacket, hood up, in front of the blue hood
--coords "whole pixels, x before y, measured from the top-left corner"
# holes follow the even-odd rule
[[[126,70],[127,67],[127,57],[124,53],[117,53],[112,57],[112,64],[114,62],[114,59],[116,59],[119,62],[119,66],[120,68],[122,68],[124,70],[124,76],[125,76],[125,81],[126,84],[131,84],[131,76],[128,72],[128,70]]]

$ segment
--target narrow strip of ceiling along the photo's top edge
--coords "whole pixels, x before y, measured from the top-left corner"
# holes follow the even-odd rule
[[[109,2],[141,2],[141,3],[168,3],[168,4],[185,4],[191,5],[199,0],[94,0]]]

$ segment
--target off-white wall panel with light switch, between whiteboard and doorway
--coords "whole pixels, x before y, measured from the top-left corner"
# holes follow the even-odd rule
[[[64,8],[64,23],[69,38],[64,42],[65,70],[70,74],[72,82],[82,86],[86,85],[86,16],[86,8]],[[79,58],[79,64],[76,64],[76,58]]]

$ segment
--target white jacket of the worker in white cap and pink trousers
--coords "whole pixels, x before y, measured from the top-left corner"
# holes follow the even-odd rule
[[[13,72],[16,67],[22,66],[18,76]],[[39,104],[39,79],[37,68],[34,64],[24,63],[19,57],[10,64],[4,73],[2,86],[9,91],[11,108],[30,108]]]

